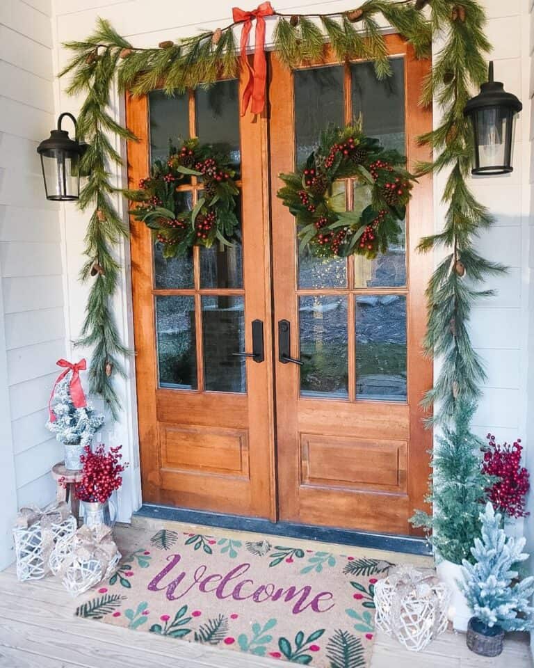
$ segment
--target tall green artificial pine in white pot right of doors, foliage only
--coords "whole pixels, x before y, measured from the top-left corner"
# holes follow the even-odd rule
[[[454,564],[473,558],[469,548],[480,536],[480,502],[492,480],[480,468],[482,441],[469,430],[475,408],[459,401],[453,427],[437,437],[426,498],[433,514],[418,510],[410,520],[425,528],[439,557]]]

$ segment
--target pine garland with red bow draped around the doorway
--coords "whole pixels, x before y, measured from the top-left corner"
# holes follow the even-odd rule
[[[111,200],[111,195],[120,189],[113,186],[110,170],[113,165],[122,165],[122,158],[108,135],[129,140],[135,140],[135,136],[111,115],[110,93],[115,77],[121,91],[129,90],[134,95],[143,95],[158,86],[172,95],[211,84],[220,75],[235,77],[240,67],[249,65],[243,58],[246,35],[244,40],[242,35],[238,58],[234,28],[242,24],[241,30],[248,34],[255,20],[257,50],[250,77],[252,81],[259,74],[261,88],[261,22],[264,16],[270,16],[277,22],[274,51],[287,67],[321,58],[327,41],[340,61],[373,60],[377,76],[384,78],[389,75],[389,61],[378,23],[381,16],[410,42],[417,58],[430,55],[432,38],[444,42],[421,91],[421,104],[429,105],[435,100],[443,112],[440,125],[419,138],[433,150],[434,159],[417,165],[416,171],[425,175],[450,170],[443,193],[447,205],[443,230],[421,239],[419,244],[421,251],[446,249],[427,289],[424,349],[429,356],[440,356],[443,364],[424,404],[437,404],[434,420],[448,422],[458,401],[478,398],[485,379],[482,362],[469,338],[468,323],[476,299],[491,291],[477,289],[477,285],[505,270],[476,252],[478,234],[492,224],[492,217],[466,183],[473,140],[463,111],[471,89],[486,79],[485,54],[491,49],[483,31],[483,8],[476,0],[368,0],[344,13],[286,15],[272,8],[272,12],[264,11],[268,4],[263,3],[254,12],[234,11],[234,22],[224,28],[179,42],[161,42],[153,49],[134,47],[103,19],[83,42],[65,44],[74,51],[74,57],[60,76],[72,74],[67,93],[86,96],[78,116],[78,132],[79,138],[89,144],[82,164],[83,173],[89,176],[79,206],[82,210],[92,209],[92,214],[86,235],[88,259],[81,270],[81,280],[92,280],[92,285],[78,344],[93,350],[90,390],[102,396],[114,417],[118,415],[120,405],[112,379],[115,373],[124,375],[121,358],[128,351],[120,340],[110,301],[117,289],[120,269],[113,246],[121,237],[127,237],[128,229]],[[252,89],[252,111],[259,111],[261,90],[258,92],[257,81],[252,81]],[[248,100],[243,101],[243,106],[245,102]],[[465,280],[466,276],[469,280]]]

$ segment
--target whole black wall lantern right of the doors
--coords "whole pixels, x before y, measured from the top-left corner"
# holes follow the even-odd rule
[[[471,174],[508,174],[513,170],[515,116],[522,108],[515,95],[493,80],[493,63],[489,63],[487,84],[480,86],[480,93],[464,109],[474,129],[475,166]]]

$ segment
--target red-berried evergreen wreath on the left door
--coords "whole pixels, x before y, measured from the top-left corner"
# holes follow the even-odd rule
[[[179,189],[188,175],[202,178],[204,189],[193,209],[183,209]],[[188,139],[177,149],[170,145],[168,160],[156,160],[138,190],[126,191],[139,205],[131,210],[154,231],[163,244],[163,257],[181,257],[193,246],[210,248],[215,241],[232,246],[239,221],[236,216],[236,173],[228,156],[209,144]]]

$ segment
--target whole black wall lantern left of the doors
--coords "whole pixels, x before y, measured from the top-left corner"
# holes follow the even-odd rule
[[[61,129],[61,121],[65,116],[74,123],[74,139]],[[51,130],[49,138],[37,148],[47,200],[64,202],[79,198],[80,159],[86,150],[87,144],[76,138],[76,118],[72,113],[62,113],[58,118],[58,129]]]

